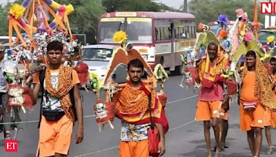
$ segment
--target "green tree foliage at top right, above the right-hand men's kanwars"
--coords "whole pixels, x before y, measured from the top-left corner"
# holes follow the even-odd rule
[[[248,18],[253,21],[254,0],[191,0],[188,3],[188,12],[195,15],[197,23],[217,21],[219,14],[226,14],[229,20],[235,20],[237,18],[235,10],[238,8],[242,8],[244,12],[247,12]],[[180,9],[183,10],[183,6]],[[258,16],[258,21],[264,23],[264,15],[258,13]]]

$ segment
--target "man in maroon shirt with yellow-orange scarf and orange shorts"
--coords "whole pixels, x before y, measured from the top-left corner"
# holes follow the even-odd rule
[[[221,72],[226,70],[227,60],[219,51],[219,45],[214,41],[208,44],[206,59],[199,63],[199,79],[201,88],[199,90],[199,99],[196,121],[204,121],[204,136],[208,149],[208,157],[212,156],[210,149],[210,126],[215,132],[216,151],[215,156],[220,156],[219,141],[219,108],[224,101],[224,92],[222,87],[223,79]],[[210,122],[211,121],[211,122]]]

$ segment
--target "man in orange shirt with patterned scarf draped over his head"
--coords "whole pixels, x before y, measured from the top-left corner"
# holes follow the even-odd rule
[[[275,101],[270,90],[268,72],[253,50],[246,53],[246,64],[241,77],[240,127],[242,131],[247,132],[251,154],[259,156],[262,147],[264,112],[266,106],[273,107]]]

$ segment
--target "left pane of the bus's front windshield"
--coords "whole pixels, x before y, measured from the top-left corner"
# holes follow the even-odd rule
[[[99,30],[99,43],[113,43],[113,35],[125,30],[124,18],[102,18]]]

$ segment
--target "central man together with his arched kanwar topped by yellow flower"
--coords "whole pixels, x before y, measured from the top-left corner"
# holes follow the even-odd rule
[[[166,150],[165,134],[168,132],[168,121],[154,89],[155,76],[143,56],[127,44],[126,32],[116,32],[113,40],[115,43],[121,43],[121,47],[112,54],[110,68],[103,84],[111,87],[108,91],[115,103],[115,114],[121,119],[119,156],[162,156]],[[127,67],[128,79],[126,83],[118,84],[113,80],[112,74],[115,74],[121,65]],[[147,80],[142,81],[145,72]],[[152,135],[155,138],[152,138]]]

